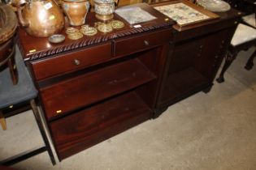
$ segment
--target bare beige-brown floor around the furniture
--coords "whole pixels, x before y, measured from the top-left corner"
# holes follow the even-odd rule
[[[158,119],[101,142],[52,166],[47,153],[15,169],[37,170],[255,170],[256,66],[244,69],[253,49],[239,53],[212,90],[191,96]],[[256,62],[256,61],[255,61]],[[26,113],[7,119],[0,130],[0,159],[42,143],[33,118]]]

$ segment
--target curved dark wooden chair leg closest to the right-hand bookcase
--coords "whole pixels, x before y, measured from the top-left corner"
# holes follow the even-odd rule
[[[225,63],[224,66],[219,74],[219,78],[216,79],[216,81],[218,83],[223,83],[225,81],[224,79],[224,73],[226,72],[226,70],[228,70],[228,67],[232,64],[232,62],[234,61],[234,59],[236,58],[237,53],[231,53],[228,52],[226,57],[225,57]]]

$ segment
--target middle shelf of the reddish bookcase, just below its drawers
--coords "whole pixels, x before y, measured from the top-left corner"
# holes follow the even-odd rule
[[[138,59],[107,66],[41,89],[46,117],[72,112],[155,79]]]

